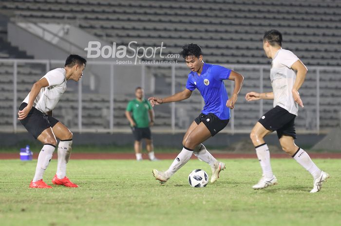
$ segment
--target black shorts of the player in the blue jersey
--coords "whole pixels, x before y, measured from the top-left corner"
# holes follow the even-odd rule
[[[208,115],[205,115],[201,113],[195,120],[198,125],[200,122],[203,122],[206,127],[208,128],[209,132],[211,132],[212,137],[216,135],[220,130],[224,129],[229,120],[221,120],[219,119],[215,114],[208,113]]]

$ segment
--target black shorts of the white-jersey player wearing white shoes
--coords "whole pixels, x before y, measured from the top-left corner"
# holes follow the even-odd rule
[[[289,113],[283,107],[275,106],[266,112],[258,122],[267,130],[276,130],[278,139],[283,135],[296,139],[295,118],[296,115]]]

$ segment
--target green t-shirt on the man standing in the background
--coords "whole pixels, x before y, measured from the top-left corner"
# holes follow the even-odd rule
[[[149,127],[149,110],[152,105],[146,99],[139,102],[137,99],[130,101],[127,105],[127,111],[133,112],[133,120],[137,128]]]

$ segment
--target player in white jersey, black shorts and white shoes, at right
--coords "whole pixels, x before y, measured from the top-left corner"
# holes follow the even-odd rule
[[[277,178],[272,173],[270,165],[269,148],[264,141],[266,135],[276,130],[284,152],[292,156],[313,176],[314,187],[310,192],[318,192],[329,175],[320,170],[309,155],[294,142],[296,139],[294,122],[298,114],[298,105],[304,107],[298,90],[304,82],[307,68],[294,53],[282,49],[282,34],[277,30],[265,33],[263,48],[266,56],[272,59],[270,79],[273,92],[249,92],[246,94],[246,100],[273,99],[274,108],[261,117],[250,133],[263,170],[261,180],[252,188],[264,189],[277,184]]]

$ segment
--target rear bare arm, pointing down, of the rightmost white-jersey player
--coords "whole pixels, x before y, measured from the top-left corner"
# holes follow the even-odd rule
[[[292,97],[294,98],[294,101],[299,104],[301,107],[303,106],[303,102],[301,100],[300,94],[298,90],[302,87],[305,75],[308,71],[308,69],[305,67],[305,65],[302,63],[301,60],[296,61],[292,66],[291,69],[296,70],[296,80],[294,83],[294,86],[292,87]]]

